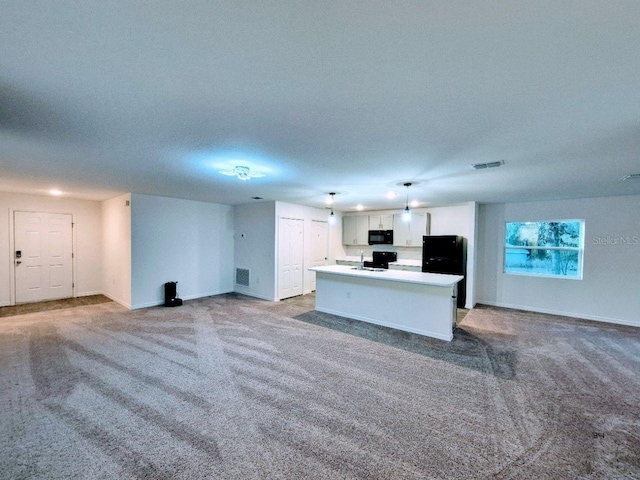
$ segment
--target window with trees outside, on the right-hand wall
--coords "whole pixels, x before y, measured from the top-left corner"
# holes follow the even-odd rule
[[[582,279],[583,220],[507,222],[504,271]]]

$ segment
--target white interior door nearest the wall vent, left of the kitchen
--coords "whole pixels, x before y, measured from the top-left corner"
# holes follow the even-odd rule
[[[304,221],[278,219],[278,298],[302,295]]]

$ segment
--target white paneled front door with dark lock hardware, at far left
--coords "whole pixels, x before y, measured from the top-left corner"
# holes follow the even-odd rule
[[[73,296],[72,216],[14,212],[16,303]]]

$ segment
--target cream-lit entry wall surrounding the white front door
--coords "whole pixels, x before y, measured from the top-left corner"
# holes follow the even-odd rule
[[[0,192],[0,306],[12,305],[13,211],[67,213],[74,225],[74,296],[101,292],[100,202],[44,195]]]

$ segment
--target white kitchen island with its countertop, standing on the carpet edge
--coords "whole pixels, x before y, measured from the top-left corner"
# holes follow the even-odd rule
[[[461,275],[330,265],[316,272],[316,310],[376,325],[453,339]]]

